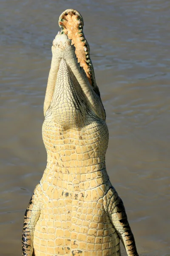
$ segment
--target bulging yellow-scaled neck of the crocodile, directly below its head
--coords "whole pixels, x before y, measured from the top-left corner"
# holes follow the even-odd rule
[[[98,124],[94,121],[67,130],[57,127],[55,122],[51,124],[45,121],[42,127],[49,170],[62,174],[87,174],[105,169],[108,144],[105,122]]]

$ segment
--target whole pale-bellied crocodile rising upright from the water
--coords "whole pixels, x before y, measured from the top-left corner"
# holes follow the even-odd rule
[[[108,127],[79,12],[59,17],[44,101],[47,165],[25,212],[23,256],[138,256],[105,167]]]

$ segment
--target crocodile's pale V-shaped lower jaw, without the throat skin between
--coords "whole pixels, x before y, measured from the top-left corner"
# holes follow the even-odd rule
[[[74,45],[71,45],[71,40],[68,39],[68,36],[65,34],[58,34],[53,41],[51,69],[48,76],[48,84],[44,101],[44,116],[51,104],[61,59],[66,61],[78,83],[82,87],[85,94],[85,100],[89,107],[99,118],[105,120],[105,110],[103,108],[102,101],[94,92],[84,69],[80,67],[75,54],[75,47]]]

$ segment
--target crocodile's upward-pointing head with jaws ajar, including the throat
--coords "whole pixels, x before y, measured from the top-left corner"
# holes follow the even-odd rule
[[[45,119],[53,118],[62,126],[85,125],[90,116],[105,120],[90,48],[82,31],[82,16],[68,9],[60,15],[59,26],[61,32],[52,46],[44,102]]]

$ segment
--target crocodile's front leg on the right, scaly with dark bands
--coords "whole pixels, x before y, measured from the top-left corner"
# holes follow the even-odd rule
[[[122,199],[112,187],[106,196],[106,211],[121,239],[128,256],[139,256],[136,250],[135,239],[127,221],[127,215]]]

